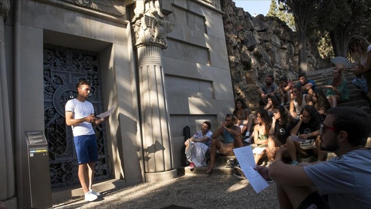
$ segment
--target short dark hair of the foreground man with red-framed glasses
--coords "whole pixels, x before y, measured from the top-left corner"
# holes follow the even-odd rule
[[[359,107],[333,107],[327,115],[334,117],[334,128],[337,132],[345,131],[348,142],[353,146],[364,146],[371,132],[371,120],[368,114]]]

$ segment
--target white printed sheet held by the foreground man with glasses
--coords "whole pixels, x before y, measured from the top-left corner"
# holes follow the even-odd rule
[[[251,146],[235,148],[233,149],[233,152],[236,155],[238,163],[240,164],[246,179],[249,180],[249,183],[256,193],[261,192],[263,189],[269,186],[263,177],[260,176],[256,170],[254,170],[256,165]]]

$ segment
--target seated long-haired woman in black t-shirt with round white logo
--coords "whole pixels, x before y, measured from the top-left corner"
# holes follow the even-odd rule
[[[275,107],[273,121],[269,130],[268,148],[270,163],[275,160],[277,147],[286,147],[286,139],[295,127],[297,120],[293,119],[285,106]]]

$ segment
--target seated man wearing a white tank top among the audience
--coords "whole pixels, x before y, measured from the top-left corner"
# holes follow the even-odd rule
[[[308,94],[302,94],[301,84],[295,84],[292,87],[293,99],[290,101],[290,115],[299,120],[300,112],[306,105],[312,105],[312,97]]]

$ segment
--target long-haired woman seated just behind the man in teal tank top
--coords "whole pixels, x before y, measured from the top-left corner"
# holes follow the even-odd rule
[[[249,108],[246,106],[243,99],[238,98],[234,103],[233,115],[237,118],[237,125],[241,129],[241,134],[245,134],[246,138],[249,139],[252,125],[257,123],[256,116],[250,114]]]

